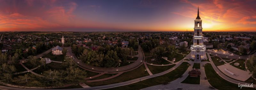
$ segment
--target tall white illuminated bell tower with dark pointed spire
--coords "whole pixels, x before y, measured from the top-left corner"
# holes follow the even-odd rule
[[[193,37],[193,45],[191,45],[191,59],[195,60],[204,60],[207,59],[205,54],[206,46],[204,45],[204,37],[202,31],[202,20],[199,17],[199,8],[197,11],[197,17],[195,20],[195,28],[194,28],[194,37]]]

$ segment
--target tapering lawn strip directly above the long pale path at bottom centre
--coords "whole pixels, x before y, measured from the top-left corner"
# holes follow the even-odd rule
[[[104,81],[98,81],[98,82],[86,82],[86,85],[102,86],[102,85],[109,85],[109,84],[129,81],[132,79],[137,79],[137,78],[149,75],[148,71],[145,71],[145,70],[146,70],[145,66],[141,65],[139,68],[132,70],[132,71],[124,72],[123,74],[117,76],[116,78],[108,79],[108,80],[104,80]]]

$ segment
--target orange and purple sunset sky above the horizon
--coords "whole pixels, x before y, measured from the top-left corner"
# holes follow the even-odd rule
[[[0,0],[0,31],[256,32],[256,0]]]

